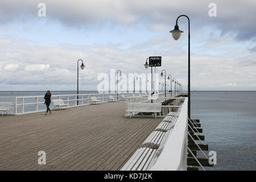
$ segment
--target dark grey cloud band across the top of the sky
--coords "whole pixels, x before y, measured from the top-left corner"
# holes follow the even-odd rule
[[[11,20],[30,21],[38,18],[38,3],[41,1],[0,2],[0,22]],[[222,32],[236,34],[237,40],[255,39],[256,1],[216,0],[217,16],[208,16],[208,5],[212,1],[170,1],[170,0],[130,0],[130,1],[60,1],[46,0],[47,19],[59,21],[68,27],[91,28],[109,24],[137,26],[144,23],[148,28],[173,28],[176,17],[187,14],[191,18],[191,28],[199,31],[202,26],[216,27]],[[187,24],[180,20],[180,24]]]

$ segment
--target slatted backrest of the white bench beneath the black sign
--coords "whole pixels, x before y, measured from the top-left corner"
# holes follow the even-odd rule
[[[158,111],[162,110],[161,104],[156,103],[128,103],[127,110],[134,110],[134,111]]]

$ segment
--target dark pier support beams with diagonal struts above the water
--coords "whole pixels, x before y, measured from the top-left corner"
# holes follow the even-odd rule
[[[203,133],[203,129],[200,127],[201,123],[199,119],[188,118],[188,171],[199,171],[198,167],[201,167],[205,171],[204,167],[213,167],[213,164],[209,163],[208,156],[204,153],[204,151],[208,151],[208,144],[203,142],[204,135],[200,134]],[[197,143],[196,140],[200,143]],[[201,151],[204,158],[197,157],[197,151]]]

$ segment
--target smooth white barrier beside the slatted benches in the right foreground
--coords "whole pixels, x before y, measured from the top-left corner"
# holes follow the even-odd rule
[[[188,99],[181,107],[176,124],[166,142],[158,148],[158,156],[155,156],[149,170],[181,171],[187,170],[188,150]]]

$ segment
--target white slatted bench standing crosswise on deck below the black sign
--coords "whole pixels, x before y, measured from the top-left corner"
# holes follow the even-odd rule
[[[154,113],[155,118],[157,113],[162,111],[162,105],[156,103],[128,103],[127,105],[127,113]],[[131,117],[130,115],[130,117]]]

